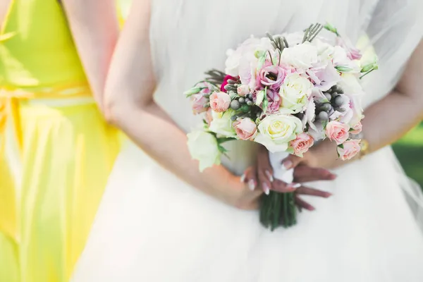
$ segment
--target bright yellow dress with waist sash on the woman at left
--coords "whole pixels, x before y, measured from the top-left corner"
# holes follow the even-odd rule
[[[56,0],[0,30],[0,281],[68,281],[119,149]]]

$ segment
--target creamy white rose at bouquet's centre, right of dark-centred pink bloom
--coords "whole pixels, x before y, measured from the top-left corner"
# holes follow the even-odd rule
[[[289,109],[292,114],[299,113],[307,106],[312,89],[312,82],[298,73],[286,76],[281,90],[279,90],[282,97],[281,108]]]

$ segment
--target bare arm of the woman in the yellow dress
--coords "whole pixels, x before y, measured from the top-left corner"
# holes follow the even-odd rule
[[[99,109],[116,41],[118,20],[114,0],[63,0],[82,65]]]

